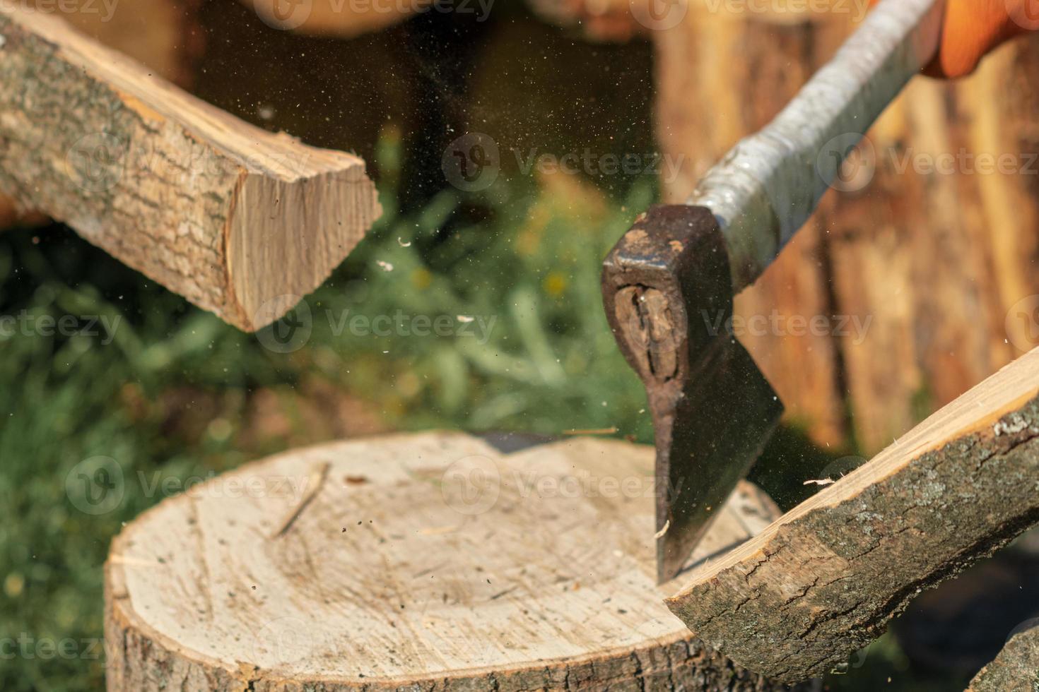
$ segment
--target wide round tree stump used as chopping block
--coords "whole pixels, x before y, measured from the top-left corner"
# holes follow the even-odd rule
[[[108,690],[779,689],[664,606],[652,462],[426,433],[213,478],[112,544]],[[742,483],[691,564],[777,516]]]

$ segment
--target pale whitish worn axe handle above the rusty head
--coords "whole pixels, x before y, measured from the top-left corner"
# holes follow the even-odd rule
[[[761,132],[700,181],[689,204],[714,212],[739,293],[807,221],[841,164],[938,47],[944,0],[882,0]]]

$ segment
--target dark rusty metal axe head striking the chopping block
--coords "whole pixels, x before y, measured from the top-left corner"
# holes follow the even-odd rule
[[[604,262],[603,300],[652,413],[664,582],[761,454],[782,404],[731,333],[732,275],[709,209],[659,204],[636,219]]]

